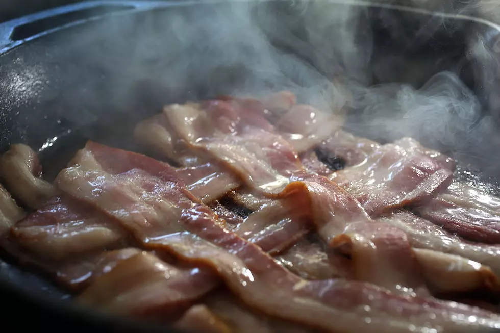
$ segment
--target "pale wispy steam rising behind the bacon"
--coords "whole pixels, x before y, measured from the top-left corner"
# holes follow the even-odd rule
[[[492,158],[495,116],[484,116],[500,108],[499,50],[495,36],[464,20],[348,2],[221,1],[114,19],[84,38],[96,36],[106,43],[84,62],[113,81],[100,92],[108,109],[132,109],[132,120],[163,103],[288,89],[327,112],[350,110],[345,126],[355,134],[383,142],[411,136],[486,172],[500,164]],[[95,118],[86,112],[66,117]]]

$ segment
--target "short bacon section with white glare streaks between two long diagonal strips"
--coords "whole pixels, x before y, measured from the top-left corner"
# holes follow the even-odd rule
[[[208,203],[217,200],[240,186],[239,181],[230,173],[219,171],[220,168],[207,163],[195,167],[176,170],[186,188],[195,197]]]

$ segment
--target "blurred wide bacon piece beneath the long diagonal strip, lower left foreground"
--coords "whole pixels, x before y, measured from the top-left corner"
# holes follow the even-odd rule
[[[182,314],[217,283],[211,273],[198,268],[178,269],[141,252],[96,278],[78,299],[106,312],[161,316],[164,320],[165,316]]]

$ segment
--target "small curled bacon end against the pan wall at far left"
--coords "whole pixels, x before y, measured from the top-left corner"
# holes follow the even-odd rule
[[[13,144],[0,157],[0,177],[7,190],[26,207],[37,209],[55,194],[42,174],[36,153],[27,145]]]

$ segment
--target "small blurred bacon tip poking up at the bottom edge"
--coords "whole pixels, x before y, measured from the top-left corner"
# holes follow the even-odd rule
[[[191,306],[173,327],[198,333],[230,333],[231,329],[203,304]]]

